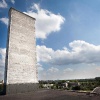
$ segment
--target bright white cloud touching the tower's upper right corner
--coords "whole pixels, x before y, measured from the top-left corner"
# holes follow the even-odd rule
[[[47,38],[52,32],[59,31],[65,20],[60,14],[40,9],[40,6],[37,4],[34,4],[31,10],[24,13],[36,18],[36,37],[42,39]]]

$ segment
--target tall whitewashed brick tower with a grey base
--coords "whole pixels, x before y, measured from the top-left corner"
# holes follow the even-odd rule
[[[5,93],[37,89],[35,18],[11,8],[5,64]]]

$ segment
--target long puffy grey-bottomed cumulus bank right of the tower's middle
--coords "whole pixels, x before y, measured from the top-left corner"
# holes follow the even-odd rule
[[[67,47],[54,51],[46,46],[37,46],[38,62],[48,62],[55,65],[96,63],[100,62],[100,45],[93,45],[82,40],[69,43]]]

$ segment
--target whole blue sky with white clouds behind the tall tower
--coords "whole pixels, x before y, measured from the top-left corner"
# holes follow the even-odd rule
[[[39,80],[100,76],[100,0],[0,0],[0,79],[10,7],[36,18]]]

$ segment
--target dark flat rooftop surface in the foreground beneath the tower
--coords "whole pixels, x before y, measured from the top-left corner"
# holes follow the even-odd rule
[[[100,100],[100,95],[69,92],[66,90],[38,90],[30,93],[1,95],[0,100]]]

